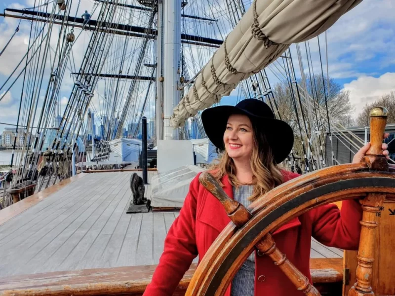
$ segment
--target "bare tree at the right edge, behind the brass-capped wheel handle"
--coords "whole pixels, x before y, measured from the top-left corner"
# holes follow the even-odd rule
[[[387,123],[395,123],[395,92],[392,91],[389,94],[383,95],[380,99],[374,101],[373,103],[366,104],[356,118],[357,125],[369,126],[370,110],[377,106],[383,106],[388,109]]]

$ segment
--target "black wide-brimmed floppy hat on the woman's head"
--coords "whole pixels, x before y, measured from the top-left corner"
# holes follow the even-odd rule
[[[232,114],[248,116],[258,131],[265,134],[276,163],[283,161],[291,152],[294,141],[292,128],[285,121],[276,119],[270,107],[257,99],[245,99],[236,106],[218,106],[201,113],[204,131],[215,147],[225,150],[224,133]]]

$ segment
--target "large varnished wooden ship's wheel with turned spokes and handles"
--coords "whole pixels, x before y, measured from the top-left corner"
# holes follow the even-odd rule
[[[238,268],[256,248],[273,259],[295,289],[319,296],[307,277],[276,247],[271,233],[314,207],[351,198],[360,198],[363,215],[356,284],[349,296],[370,295],[375,215],[386,197],[395,198],[395,166],[388,164],[381,148],[387,114],[383,107],[370,112],[371,146],[361,163],[328,167],[300,176],[266,193],[248,209],[230,199],[210,174],[202,173],[200,183],[221,201],[232,222],[198,265],[186,295],[222,296]]]

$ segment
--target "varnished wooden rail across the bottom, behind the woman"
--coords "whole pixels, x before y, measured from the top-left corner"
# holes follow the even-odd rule
[[[341,293],[343,259],[311,259],[313,283],[325,295],[334,287]],[[192,264],[174,295],[184,295],[196,270]],[[0,278],[1,296],[141,296],[151,282],[156,265],[76,271],[57,271]],[[340,287],[340,290],[339,290]],[[338,294],[339,295],[339,294]]]

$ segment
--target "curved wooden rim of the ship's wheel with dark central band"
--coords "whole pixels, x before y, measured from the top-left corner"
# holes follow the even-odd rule
[[[231,222],[200,262],[186,295],[223,295],[256,243],[314,207],[382,192],[395,198],[395,167],[372,172],[365,163],[312,172],[276,187],[248,209],[254,217],[240,229]],[[203,267],[204,266],[204,267]]]

